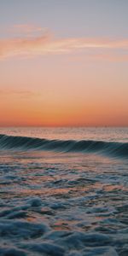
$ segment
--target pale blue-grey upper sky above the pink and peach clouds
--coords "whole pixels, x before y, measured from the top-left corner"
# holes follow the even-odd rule
[[[35,24],[59,37],[128,36],[127,0],[0,0],[2,27]]]

